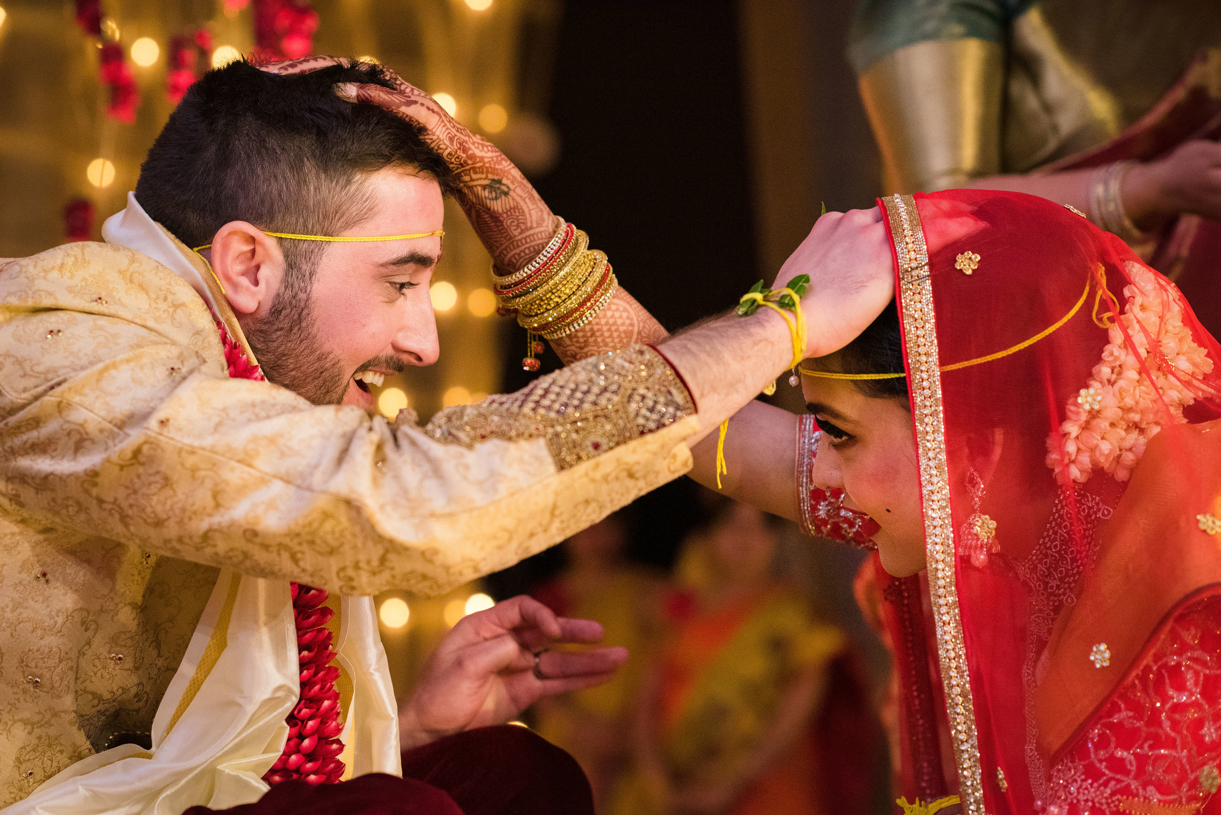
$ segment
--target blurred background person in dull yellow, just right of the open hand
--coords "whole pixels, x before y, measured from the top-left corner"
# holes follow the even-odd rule
[[[598,811],[629,758],[632,700],[656,639],[663,576],[629,561],[621,514],[578,532],[564,544],[568,566],[531,594],[553,612],[597,620],[602,643],[631,654],[609,682],[547,697],[535,706],[537,731],[585,770]]]

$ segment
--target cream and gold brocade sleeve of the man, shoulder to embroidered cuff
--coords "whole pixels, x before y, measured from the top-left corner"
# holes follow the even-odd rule
[[[0,276],[0,510],[259,577],[447,591],[684,473],[696,429],[645,346],[396,427],[228,378],[203,301],[138,253]]]

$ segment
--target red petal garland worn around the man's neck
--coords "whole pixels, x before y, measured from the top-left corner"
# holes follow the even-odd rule
[[[216,315],[212,315],[216,320]],[[230,337],[225,323],[216,320],[225,344],[225,361],[230,376],[236,379],[266,381],[258,365],[250,361],[242,345]],[[335,650],[331,648],[333,634],[326,623],[335,611],[324,606],[328,593],[300,583],[291,583],[293,593],[293,616],[297,621],[297,660],[300,666],[300,697],[284,722],[288,725],[288,741],[284,749],[263,776],[270,786],[276,786],[293,778],[306,783],[338,783],[346,765],[337,756],[343,753],[343,742],[338,736],[343,732],[339,721],[339,692],[335,681],[339,678],[339,667],[331,665]]]

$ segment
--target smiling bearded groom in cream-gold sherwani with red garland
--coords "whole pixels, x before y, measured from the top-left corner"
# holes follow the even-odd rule
[[[440,353],[442,195],[502,268],[553,220],[521,209],[515,172],[438,159],[482,149],[469,133],[438,122],[426,144],[337,96],[353,85],[399,93],[374,66],[206,74],[107,243],[0,266],[0,805],[230,806],[302,761],[396,775],[368,595],[444,592],[681,475],[795,353],[839,348],[891,296],[862,223],[853,265],[807,249],[805,337],[728,316],[388,425],[368,384]],[[324,708],[330,758],[302,730]]]

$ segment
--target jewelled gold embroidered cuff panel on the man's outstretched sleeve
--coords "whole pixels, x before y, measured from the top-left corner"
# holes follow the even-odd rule
[[[637,345],[560,368],[516,393],[444,411],[424,432],[465,448],[493,438],[542,438],[556,467],[567,470],[694,412],[670,366]]]

